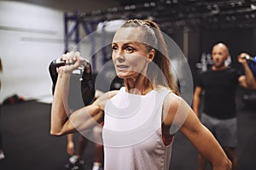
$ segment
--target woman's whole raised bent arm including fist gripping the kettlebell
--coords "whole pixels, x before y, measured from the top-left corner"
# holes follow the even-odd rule
[[[104,105],[108,99],[116,94],[113,91],[102,94],[93,104],[70,114],[67,105],[70,77],[72,71],[83,64],[84,59],[79,54],[74,53],[64,54],[62,58],[66,59],[67,65],[59,67],[51,106],[50,133],[55,136],[83,131],[96,125],[96,123],[102,122]],[[72,65],[68,65],[68,63]]]

